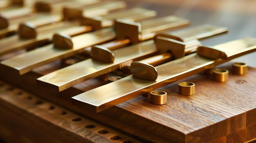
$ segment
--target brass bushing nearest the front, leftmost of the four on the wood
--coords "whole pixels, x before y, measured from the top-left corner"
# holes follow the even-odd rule
[[[167,103],[167,93],[164,91],[151,91],[150,103],[163,105]]]

